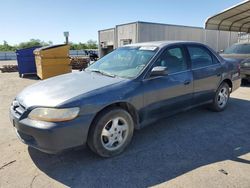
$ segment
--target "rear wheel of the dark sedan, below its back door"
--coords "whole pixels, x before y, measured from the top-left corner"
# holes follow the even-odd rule
[[[230,90],[227,83],[223,82],[216,91],[216,94],[211,104],[211,109],[216,112],[221,112],[226,109],[230,98]]]

